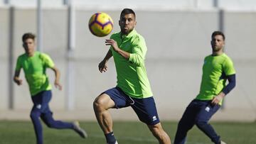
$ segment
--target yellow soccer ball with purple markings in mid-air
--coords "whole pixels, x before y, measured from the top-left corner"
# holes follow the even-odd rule
[[[90,17],[89,29],[93,35],[106,36],[113,29],[113,20],[107,13],[95,13]]]

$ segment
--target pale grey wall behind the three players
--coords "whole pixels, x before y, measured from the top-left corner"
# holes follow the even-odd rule
[[[100,9],[97,9],[100,11]],[[76,9],[74,51],[74,110],[86,111],[93,116],[92,102],[105,89],[114,87],[116,75],[110,61],[109,70],[100,74],[97,65],[108,48],[105,38],[90,34],[87,22],[97,10]],[[117,21],[122,9],[106,10],[114,20],[114,31],[119,31]],[[137,31],[144,35],[148,46],[146,68],[156,99],[160,116],[173,119],[181,116],[189,101],[198,94],[201,82],[203,58],[209,55],[210,35],[220,28],[220,11],[213,10],[166,10],[146,11],[134,9],[137,13]],[[36,33],[36,9],[14,8],[13,25],[10,21],[10,8],[0,8],[0,111],[9,108],[9,89],[13,85],[14,111],[29,111],[31,99],[28,85],[22,87],[9,84],[14,72],[9,72],[10,60],[23,53],[21,36],[26,32]],[[60,68],[63,92],[53,89],[52,109],[65,111],[67,89],[67,38],[68,11],[65,6],[58,9],[43,9],[43,51],[48,53]],[[237,87],[228,94],[225,111],[236,120],[256,118],[256,12],[224,11],[223,31],[227,37],[225,52],[233,58],[237,71]],[[13,29],[10,28],[13,26]],[[10,56],[10,30],[14,57]],[[12,69],[13,70],[13,69]],[[11,74],[11,75],[10,75]],[[53,82],[53,72],[48,71]],[[21,73],[23,78],[23,72]],[[25,81],[25,79],[23,78]],[[166,111],[169,111],[168,113]],[[129,117],[129,111],[124,112]],[[227,114],[223,114],[227,116]],[[220,115],[222,118],[225,116]],[[124,117],[125,117],[124,116]],[[1,116],[0,116],[1,117]],[[120,116],[118,116],[120,118]],[[93,119],[94,117],[92,117]],[[134,117],[132,117],[134,118]],[[90,119],[90,118],[89,118]]]

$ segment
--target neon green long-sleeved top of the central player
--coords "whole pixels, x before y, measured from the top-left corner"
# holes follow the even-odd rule
[[[133,30],[128,35],[122,35],[121,32],[114,33],[110,38],[117,41],[120,49],[130,53],[129,60],[126,60],[112,47],[110,48],[117,71],[117,87],[134,98],[142,99],[153,96],[146,75],[144,61],[147,48],[142,35]]]

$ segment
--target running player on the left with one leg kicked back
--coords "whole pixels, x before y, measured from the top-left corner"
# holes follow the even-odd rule
[[[23,69],[28,82],[31,98],[33,101],[33,109],[31,110],[31,119],[36,133],[36,143],[43,144],[43,128],[40,118],[49,128],[69,128],[77,132],[82,138],[87,137],[87,133],[80,128],[78,121],[74,123],[66,123],[63,121],[55,121],[53,113],[50,111],[48,103],[52,97],[51,85],[46,75],[46,68],[50,68],[55,73],[54,85],[59,90],[62,86],[59,82],[60,72],[55,67],[53,60],[45,53],[35,51],[35,35],[25,33],[22,37],[23,48],[25,53],[18,57],[14,82],[21,85],[22,79],[19,78],[21,68]]]

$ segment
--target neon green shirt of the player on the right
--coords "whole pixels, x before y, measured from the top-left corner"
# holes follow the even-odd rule
[[[200,92],[196,99],[211,100],[214,96],[220,94],[225,87],[226,76],[235,74],[233,62],[223,53],[222,55],[208,55],[204,59],[203,76]],[[220,101],[220,104],[222,101]]]

